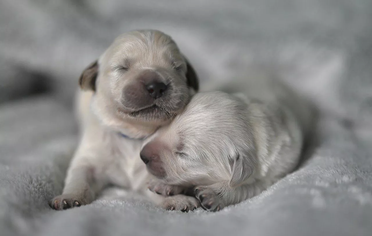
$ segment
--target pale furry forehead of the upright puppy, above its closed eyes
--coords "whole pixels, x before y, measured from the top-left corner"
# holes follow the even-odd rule
[[[145,60],[173,63],[182,60],[176,43],[170,36],[156,30],[131,31],[115,39],[111,48],[111,60]]]

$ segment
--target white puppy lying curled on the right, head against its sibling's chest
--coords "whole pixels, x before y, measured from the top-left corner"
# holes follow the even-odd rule
[[[244,91],[244,85],[238,87]],[[278,87],[267,82],[247,88],[245,94],[194,95],[141,151],[148,171],[160,179],[150,190],[164,195],[195,187],[201,206],[218,211],[258,195],[291,172],[299,161],[311,109],[288,91],[270,89]],[[254,94],[257,99],[250,99]]]

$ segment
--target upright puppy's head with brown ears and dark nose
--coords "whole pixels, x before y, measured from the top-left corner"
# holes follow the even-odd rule
[[[103,123],[118,120],[160,126],[183,110],[198,90],[193,67],[170,36],[155,30],[119,36],[79,79],[93,91],[93,110]]]

